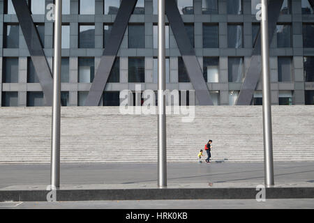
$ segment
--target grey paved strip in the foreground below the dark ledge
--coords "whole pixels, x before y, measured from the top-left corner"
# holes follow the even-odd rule
[[[175,201],[77,201],[77,202],[15,202],[0,203],[0,209],[211,209],[211,208],[314,208],[314,199],[255,200],[175,200]]]

